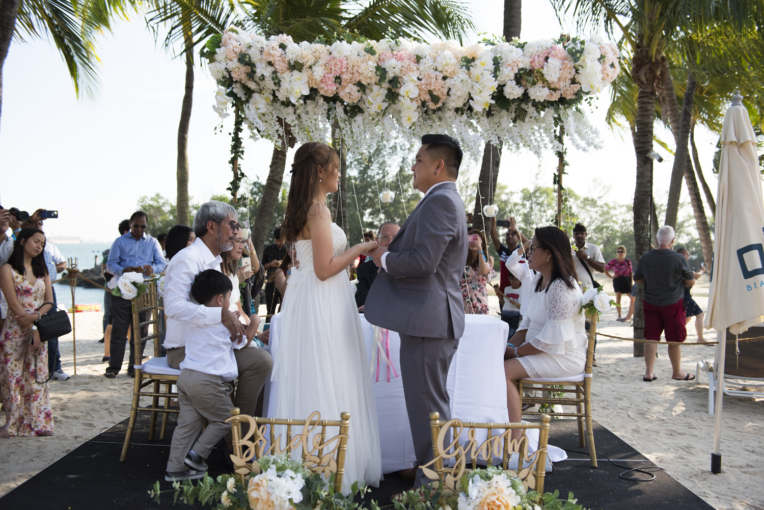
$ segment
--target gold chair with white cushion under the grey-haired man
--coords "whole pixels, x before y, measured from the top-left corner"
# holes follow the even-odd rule
[[[151,275],[154,278],[154,274]],[[167,430],[167,418],[170,413],[177,414],[177,409],[170,408],[170,398],[178,398],[177,392],[171,391],[172,386],[178,381],[180,370],[173,369],[167,365],[167,358],[160,356],[161,340],[159,334],[160,305],[157,296],[157,284],[154,279],[145,282],[147,290],[144,294],[134,297],[131,300],[133,312],[133,337],[134,346],[134,368],[135,383],[133,386],[133,401],[130,409],[130,420],[128,429],[125,431],[125,444],[122,447],[122,453],[119,457],[124,462],[128,457],[128,448],[135,428],[135,420],[138,412],[151,412],[151,426],[149,428],[149,439],[154,440],[154,432],[157,427],[157,414],[163,413],[162,428],[159,438],[164,439]],[[141,322],[141,313],[147,313],[146,320]],[[151,326],[151,332],[147,336],[141,336],[142,326]],[[154,340],[154,357],[142,362],[141,343]],[[164,385],[164,391],[162,391]],[[141,398],[151,398],[151,407],[139,407]],[[159,407],[159,399],[164,398],[164,407]]]

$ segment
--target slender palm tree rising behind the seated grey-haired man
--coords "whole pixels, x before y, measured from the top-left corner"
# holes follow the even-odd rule
[[[186,62],[185,89],[180,107],[177,135],[176,216],[178,223],[190,224],[189,217],[189,125],[193,103],[194,52],[200,42],[222,33],[235,18],[236,5],[220,0],[155,0],[146,15],[157,40],[167,30],[163,46]]]

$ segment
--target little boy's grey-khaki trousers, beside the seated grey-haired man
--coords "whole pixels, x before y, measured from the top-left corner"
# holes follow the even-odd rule
[[[178,377],[178,403],[180,414],[173,432],[167,471],[183,471],[183,460],[189,450],[205,459],[231,424],[231,386],[220,375],[209,375],[192,369],[183,369]],[[207,428],[202,432],[205,421]],[[201,434],[199,434],[201,432]]]

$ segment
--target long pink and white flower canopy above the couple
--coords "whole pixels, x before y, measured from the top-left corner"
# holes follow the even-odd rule
[[[559,150],[562,124],[579,148],[597,145],[579,108],[620,72],[613,42],[562,36],[524,43],[484,39],[420,44],[357,37],[295,43],[228,28],[202,49],[219,84],[215,112],[244,115],[254,137],[280,143],[283,122],[298,141],[325,141],[332,123],[348,149],[371,152],[378,136],[445,132],[474,155],[482,144]],[[243,111],[243,112],[242,112]]]

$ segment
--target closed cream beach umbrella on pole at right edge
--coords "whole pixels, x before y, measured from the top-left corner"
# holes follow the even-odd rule
[[[711,472],[721,473],[721,413],[726,330],[738,334],[764,321],[764,210],[756,134],[743,97],[736,93],[724,114],[714,261],[704,326],[718,332],[716,427]]]

